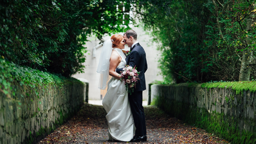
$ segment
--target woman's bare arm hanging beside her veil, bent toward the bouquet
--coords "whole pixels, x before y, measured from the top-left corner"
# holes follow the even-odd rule
[[[118,66],[118,63],[121,62],[121,58],[119,54],[116,51],[113,51],[110,56],[110,65],[109,65],[109,75],[119,79],[121,78],[121,75],[119,75],[117,72],[115,72],[116,67]]]

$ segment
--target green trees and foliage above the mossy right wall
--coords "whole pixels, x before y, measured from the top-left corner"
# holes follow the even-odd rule
[[[167,83],[249,81],[256,77],[253,0],[137,0],[152,30]]]

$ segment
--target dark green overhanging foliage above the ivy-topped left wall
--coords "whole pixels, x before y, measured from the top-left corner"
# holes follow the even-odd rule
[[[123,13],[112,0],[2,0],[0,56],[21,66],[70,76],[82,72],[93,32],[123,31]],[[125,5],[129,5],[124,3]]]

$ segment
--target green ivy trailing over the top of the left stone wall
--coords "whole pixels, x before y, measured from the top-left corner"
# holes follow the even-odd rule
[[[3,92],[8,98],[14,100],[14,102],[17,102],[19,105],[21,105],[21,103],[19,100],[16,100],[15,96],[17,92],[16,88],[18,87],[30,87],[34,90],[31,93],[33,93],[35,97],[38,97],[39,92],[37,88],[47,90],[51,85],[61,87],[65,80],[72,81],[72,79],[73,78],[66,78],[61,75],[57,76],[30,67],[21,67],[13,62],[0,59],[0,92]],[[23,97],[23,95],[21,96]]]

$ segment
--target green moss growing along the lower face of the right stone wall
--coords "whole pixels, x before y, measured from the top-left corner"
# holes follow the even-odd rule
[[[173,117],[184,120],[186,123],[203,128],[208,132],[214,133],[218,137],[225,138],[233,144],[255,144],[256,130],[239,130],[237,118],[229,118],[224,113],[213,111],[209,113],[204,108],[194,107],[190,104],[170,101],[164,97],[156,97],[155,105]],[[247,123],[252,121],[247,120]],[[255,123],[255,122],[254,122]]]

